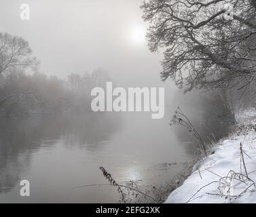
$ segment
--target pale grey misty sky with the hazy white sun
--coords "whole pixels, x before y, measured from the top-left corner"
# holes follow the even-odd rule
[[[31,20],[20,20],[20,4],[29,3]],[[141,0],[1,0],[0,31],[29,41],[40,71],[69,73],[105,69],[123,86],[164,86],[162,54],[149,52],[143,35]]]

